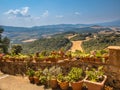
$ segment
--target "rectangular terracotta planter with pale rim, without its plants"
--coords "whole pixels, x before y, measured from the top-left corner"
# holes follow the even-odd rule
[[[104,80],[102,82],[92,82],[85,79],[84,83],[87,85],[88,90],[103,90],[106,79],[107,76],[104,76]]]

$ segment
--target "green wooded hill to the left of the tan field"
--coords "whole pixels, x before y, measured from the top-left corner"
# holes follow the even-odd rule
[[[68,50],[72,43],[69,39],[64,37],[56,38],[40,38],[31,43],[22,44],[23,53],[36,53],[41,51],[53,51],[53,50]]]

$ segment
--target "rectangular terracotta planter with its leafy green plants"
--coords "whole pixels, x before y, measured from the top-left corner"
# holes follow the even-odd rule
[[[102,90],[107,76],[102,71],[102,66],[98,67],[98,70],[92,69],[86,71],[86,79],[84,83],[87,85],[88,90]]]

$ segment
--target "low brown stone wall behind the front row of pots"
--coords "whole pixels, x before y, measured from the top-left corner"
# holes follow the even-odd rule
[[[24,75],[27,71],[27,69],[30,67],[34,70],[37,70],[39,68],[46,68],[46,67],[61,67],[64,73],[67,73],[70,71],[71,67],[81,67],[83,70],[86,69],[86,67],[89,68],[97,68],[98,66],[107,64],[101,64],[101,63],[91,63],[91,62],[82,62],[81,59],[76,60],[69,60],[65,62],[59,62],[59,63],[44,63],[44,62],[0,62],[0,71],[6,74],[10,75],[17,75],[21,74]]]

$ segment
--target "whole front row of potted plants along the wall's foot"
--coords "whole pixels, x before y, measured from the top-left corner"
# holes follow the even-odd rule
[[[43,71],[28,69],[27,74],[31,83],[40,83],[53,89],[60,86],[62,90],[69,90],[69,87],[72,87],[72,90],[82,90],[83,86],[88,90],[102,90],[107,79],[102,66],[85,72],[81,68],[72,67],[67,74],[62,73],[60,67],[53,66]]]

